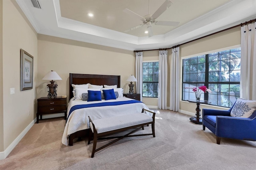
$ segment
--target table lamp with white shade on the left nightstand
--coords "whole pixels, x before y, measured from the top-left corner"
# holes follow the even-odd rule
[[[62,78],[60,78],[60,76],[55,72],[55,71],[49,71],[44,78],[42,78],[42,80],[52,80],[50,81],[51,84],[48,84],[48,98],[51,99],[52,97],[56,98],[57,97],[57,93],[56,93],[56,87],[58,86],[57,84],[54,84],[55,81],[53,80],[62,80]]]

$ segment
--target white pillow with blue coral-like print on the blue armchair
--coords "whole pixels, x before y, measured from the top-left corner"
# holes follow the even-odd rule
[[[232,117],[250,117],[256,110],[256,101],[237,99],[234,107],[231,110]]]

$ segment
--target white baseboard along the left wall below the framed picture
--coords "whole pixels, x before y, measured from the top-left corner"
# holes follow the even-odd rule
[[[10,152],[14,149],[14,147],[20,142],[20,140],[25,136],[28,130],[36,123],[36,118],[19,134],[19,136],[4,150],[4,152],[0,152],[0,160],[5,159]]]

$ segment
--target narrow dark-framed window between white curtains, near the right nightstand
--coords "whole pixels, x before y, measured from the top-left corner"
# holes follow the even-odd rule
[[[142,97],[158,97],[159,62],[143,62]]]

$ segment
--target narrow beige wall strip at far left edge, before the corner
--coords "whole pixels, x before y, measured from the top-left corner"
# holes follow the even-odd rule
[[[3,120],[3,1],[0,0],[0,152],[4,151]]]

